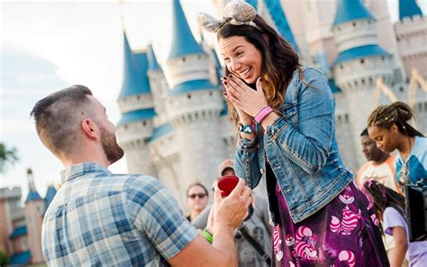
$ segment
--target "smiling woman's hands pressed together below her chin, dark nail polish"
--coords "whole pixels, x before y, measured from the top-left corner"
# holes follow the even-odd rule
[[[247,86],[240,78],[232,74],[228,77],[223,77],[223,86],[227,93],[225,97],[236,107],[240,117],[242,111],[253,118],[261,108],[268,106],[262,89],[261,78],[257,80],[257,90]]]

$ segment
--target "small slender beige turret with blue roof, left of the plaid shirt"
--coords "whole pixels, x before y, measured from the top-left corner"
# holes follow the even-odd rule
[[[25,199],[25,222],[28,229],[28,248],[32,255],[32,263],[44,262],[41,253],[41,226],[46,209],[43,198],[34,187],[32,169],[27,170],[28,195]]]

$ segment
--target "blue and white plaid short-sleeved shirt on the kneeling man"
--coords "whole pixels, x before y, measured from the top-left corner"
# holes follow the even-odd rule
[[[61,177],[43,220],[48,265],[159,266],[197,235],[159,180],[89,162]]]

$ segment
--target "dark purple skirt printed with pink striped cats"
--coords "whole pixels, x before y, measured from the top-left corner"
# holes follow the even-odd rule
[[[389,266],[372,204],[353,182],[297,224],[278,186],[276,196],[273,266]]]

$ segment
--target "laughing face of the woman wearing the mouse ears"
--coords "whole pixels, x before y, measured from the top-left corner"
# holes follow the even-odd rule
[[[260,51],[242,36],[221,38],[218,44],[227,69],[246,83],[255,83],[261,76]]]

